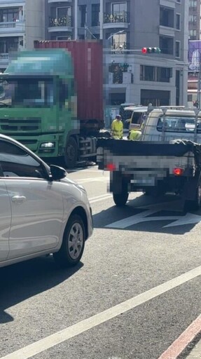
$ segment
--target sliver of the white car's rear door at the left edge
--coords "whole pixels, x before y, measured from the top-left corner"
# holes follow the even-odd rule
[[[11,229],[11,204],[0,171],[0,263],[8,257]]]

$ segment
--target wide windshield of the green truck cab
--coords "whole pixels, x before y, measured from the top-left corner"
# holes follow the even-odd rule
[[[53,79],[8,79],[0,82],[0,107],[48,107],[53,104]]]

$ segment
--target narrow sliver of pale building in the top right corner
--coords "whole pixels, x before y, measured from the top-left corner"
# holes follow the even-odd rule
[[[189,0],[189,13],[188,13],[188,32],[189,40],[200,39],[200,15],[201,15],[201,1]]]

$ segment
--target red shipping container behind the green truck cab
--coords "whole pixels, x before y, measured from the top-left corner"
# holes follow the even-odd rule
[[[34,41],[35,48],[64,48],[72,56],[81,128],[96,120],[103,128],[103,51],[101,41]]]

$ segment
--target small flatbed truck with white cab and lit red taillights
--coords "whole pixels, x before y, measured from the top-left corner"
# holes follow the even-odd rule
[[[109,191],[118,206],[131,191],[180,195],[186,210],[201,207],[201,112],[148,109],[141,140],[99,139],[97,163],[110,171]]]

